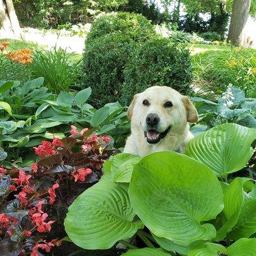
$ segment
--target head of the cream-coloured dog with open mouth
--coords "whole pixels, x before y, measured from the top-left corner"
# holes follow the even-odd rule
[[[158,143],[168,134],[184,131],[198,115],[187,96],[167,86],[152,86],[134,96],[127,112],[136,131],[144,132],[147,142]]]

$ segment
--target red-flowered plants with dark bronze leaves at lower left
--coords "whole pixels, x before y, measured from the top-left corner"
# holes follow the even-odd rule
[[[116,153],[111,139],[94,129],[72,126],[70,132],[35,147],[31,166],[0,167],[0,255],[40,256],[60,246],[68,206],[100,179],[102,164]],[[6,157],[0,148],[0,161]]]

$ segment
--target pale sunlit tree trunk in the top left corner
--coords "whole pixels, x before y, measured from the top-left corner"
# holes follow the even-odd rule
[[[19,20],[12,0],[0,0],[0,38],[8,35],[22,37]]]

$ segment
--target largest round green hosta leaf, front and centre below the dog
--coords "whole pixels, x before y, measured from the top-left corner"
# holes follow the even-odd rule
[[[223,209],[216,175],[205,164],[176,152],[155,152],[134,166],[129,188],[134,211],[150,231],[188,245],[212,239],[209,223]]]

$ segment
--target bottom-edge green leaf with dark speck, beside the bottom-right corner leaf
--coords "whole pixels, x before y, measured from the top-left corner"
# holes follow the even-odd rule
[[[223,254],[221,254],[223,253]],[[228,255],[227,249],[221,244],[204,243],[189,250],[188,256],[221,256]]]

